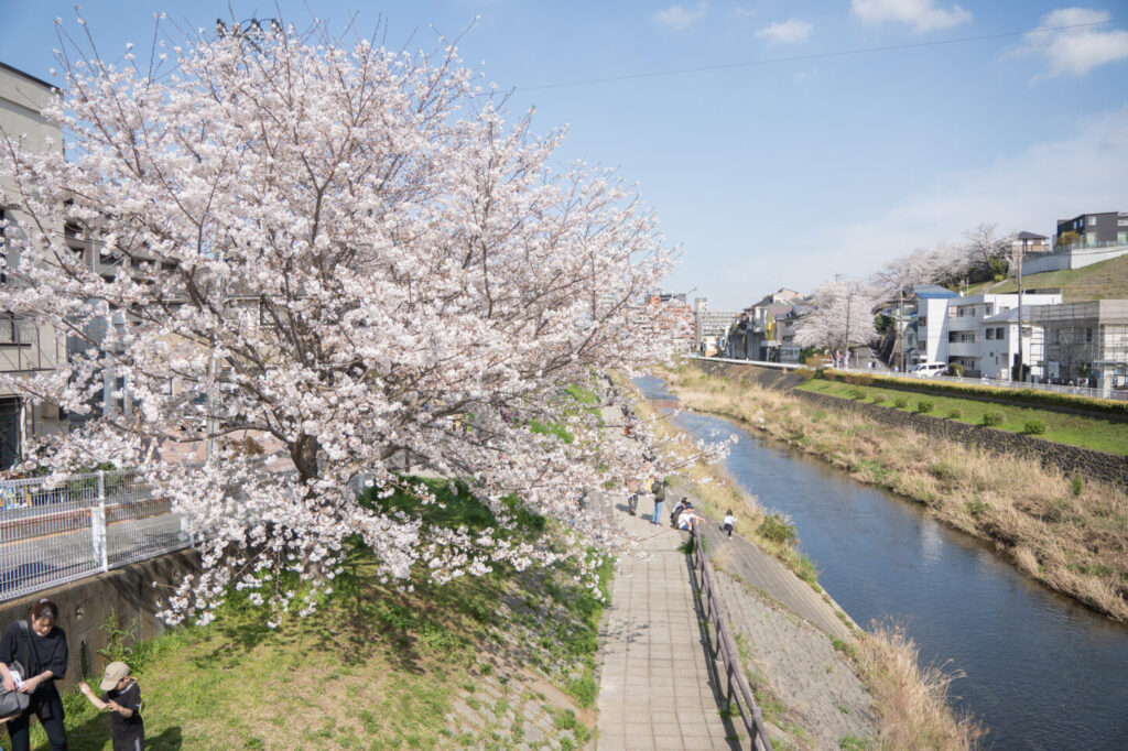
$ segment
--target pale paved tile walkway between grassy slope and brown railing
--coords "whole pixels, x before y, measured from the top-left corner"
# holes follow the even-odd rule
[[[704,634],[689,582],[685,536],[649,516],[616,515],[646,538],[647,559],[620,556],[611,603],[600,627],[600,751],[629,749],[734,749],[735,728],[721,717]],[[653,511],[643,500],[638,513]],[[663,515],[669,509],[663,511]],[[668,518],[667,518],[668,519]]]

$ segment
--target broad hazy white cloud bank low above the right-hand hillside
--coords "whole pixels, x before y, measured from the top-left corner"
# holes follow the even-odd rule
[[[900,205],[817,236],[796,248],[793,273],[856,270],[860,275],[914,248],[954,242],[989,222],[1004,232],[1052,235],[1056,220],[1087,211],[1128,210],[1128,106],[1083,122],[1061,141],[1038,143],[982,167],[934,179]],[[831,250],[826,250],[830,248]],[[847,260],[848,259],[848,260]],[[791,284],[813,286],[817,280]],[[801,288],[795,288],[801,289]]]

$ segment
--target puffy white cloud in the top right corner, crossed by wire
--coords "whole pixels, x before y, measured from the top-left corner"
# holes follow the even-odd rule
[[[1089,8],[1061,8],[1042,17],[1039,28],[1102,24],[1111,15]],[[1061,32],[1031,32],[1020,53],[1046,59],[1043,77],[1084,76],[1098,65],[1128,58],[1128,32],[1099,27],[1069,28]]]

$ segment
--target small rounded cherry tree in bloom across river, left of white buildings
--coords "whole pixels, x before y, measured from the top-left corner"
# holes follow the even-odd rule
[[[840,276],[823,282],[811,295],[813,312],[795,323],[795,343],[847,352],[878,335],[873,325],[874,294],[864,283]]]

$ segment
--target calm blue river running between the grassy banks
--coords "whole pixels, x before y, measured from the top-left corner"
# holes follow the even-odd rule
[[[660,405],[673,399],[658,378],[635,383]],[[988,748],[1128,748],[1128,628],[1032,582],[919,504],[726,419],[672,421],[700,438],[739,436],[729,474],[792,518],[819,582],[856,622],[900,624],[922,663],[966,673],[950,701],[990,730]]]

